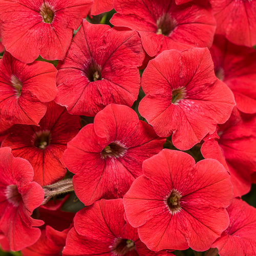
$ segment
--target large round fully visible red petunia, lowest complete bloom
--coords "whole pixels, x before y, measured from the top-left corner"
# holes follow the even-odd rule
[[[226,169],[214,159],[195,165],[188,154],[166,149],[142,168],[123,197],[141,241],[151,250],[209,249],[229,224],[225,207],[233,193]]]

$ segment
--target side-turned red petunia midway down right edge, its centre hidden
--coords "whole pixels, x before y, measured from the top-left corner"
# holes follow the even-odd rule
[[[234,196],[249,192],[256,172],[256,116],[240,114],[235,108],[230,119],[207,135],[201,147],[204,158],[214,158],[230,172]]]

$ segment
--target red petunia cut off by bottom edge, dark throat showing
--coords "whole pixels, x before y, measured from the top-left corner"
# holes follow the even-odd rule
[[[100,200],[80,210],[68,234],[63,255],[173,255],[150,251],[124,216],[123,200]]]

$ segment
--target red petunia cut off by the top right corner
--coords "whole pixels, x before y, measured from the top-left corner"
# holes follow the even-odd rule
[[[255,1],[210,0],[217,20],[217,34],[237,45],[256,44]]]

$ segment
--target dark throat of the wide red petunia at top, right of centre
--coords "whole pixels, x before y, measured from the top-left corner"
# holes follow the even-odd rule
[[[175,19],[170,17],[168,13],[163,14],[160,18],[157,20],[157,35],[170,35],[170,33],[173,32],[173,30],[176,28],[177,22]]]

